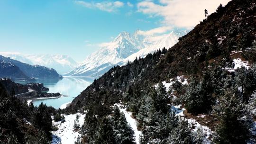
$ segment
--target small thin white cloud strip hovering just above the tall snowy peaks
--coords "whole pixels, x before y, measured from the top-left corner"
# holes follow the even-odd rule
[[[153,36],[155,34],[166,33],[166,32],[168,32],[168,31],[170,31],[172,29],[173,29],[173,27],[157,27],[157,28],[150,29],[150,30],[147,30],[147,31],[139,30],[138,34],[139,35],[144,35],[144,36]]]

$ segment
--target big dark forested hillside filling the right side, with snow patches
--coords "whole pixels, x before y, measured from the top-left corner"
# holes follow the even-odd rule
[[[110,69],[65,109],[87,111],[78,143],[135,143],[123,113],[114,107],[120,102],[137,120],[140,144],[255,143],[255,15],[254,0],[232,0],[169,50]],[[172,83],[168,91],[162,81]],[[184,118],[175,116],[172,105],[185,108]],[[199,122],[213,131],[207,140],[185,120],[202,114],[206,118]]]

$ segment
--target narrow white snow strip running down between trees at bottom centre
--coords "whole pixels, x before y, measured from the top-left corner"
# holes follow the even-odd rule
[[[137,122],[136,119],[131,117],[132,113],[126,111],[126,108],[123,108],[123,105],[120,104],[115,104],[116,106],[118,106],[118,108],[120,109],[121,112],[123,112],[125,114],[126,120],[128,122],[128,124],[131,126],[131,128],[133,129],[134,133],[135,133],[135,140],[136,143],[139,144],[139,135],[141,135],[141,131],[137,130]]]

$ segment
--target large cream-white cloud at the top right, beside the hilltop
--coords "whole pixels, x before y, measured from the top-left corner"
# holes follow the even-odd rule
[[[151,17],[164,17],[167,26],[192,28],[204,19],[204,9],[215,12],[219,4],[230,0],[159,0],[159,4],[144,0],[137,4],[138,12]]]

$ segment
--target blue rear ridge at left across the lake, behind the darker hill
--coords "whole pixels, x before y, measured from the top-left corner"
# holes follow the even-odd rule
[[[21,63],[19,61],[16,61],[1,55],[0,55],[0,62],[9,63],[9,65],[11,65],[12,67],[18,67],[20,71],[22,71],[25,75],[27,75],[27,77],[30,77],[30,78],[58,78],[58,79],[62,78],[62,76],[59,75],[54,69],[49,69],[44,66]],[[15,69],[12,69],[12,70],[14,70],[14,72],[9,72],[7,74],[16,73]],[[12,75],[7,75],[7,77],[10,77],[10,76],[13,78],[20,78],[19,76],[14,77]]]

